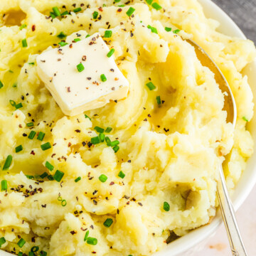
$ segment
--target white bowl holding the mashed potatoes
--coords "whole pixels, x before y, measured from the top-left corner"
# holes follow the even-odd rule
[[[240,28],[234,23],[234,21],[227,15],[223,10],[221,10],[217,5],[215,5],[210,0],[198,0],[202,6],[203,10],[208,18],[214,18],[220,22],[220,27],[218,31],[225,33],[228,36],[235,36],[238,38],[244,38],[245,35],[240,31]],[[243,70],[243,75],[247,75],[250,86],[256,85],[256,59],[250,65],[247,65]],[[256,86],[252,87],[253,95],[256,95]],[[254,99],[255,103],[255,99]],[[256,114],[252,118],[252,121],[248,124],[248,129],[250,130],[254,141],[256,141]],[[247,168],[243,172],[238,185],[235,188],[235,193],[232,196],[233,206],[235,210],[242,205],[253,186],[256,183],[256,152],[252,157],[247,161]],[[161,252],[156,252],[154,256],[176,256],[182,254],[186,255],[186,252],[191,249],[191,247],[197,245],[202,240],[208,238],[210,235],[213,235],[220,223],[222,218],[220,212],[217,212],[217,215],[213,219],[212,223],[205,225],[201,228],[197,228],[188,235],[184,235],[181,238],[178,238],[174,242],[171,242],[164,250]],[[238,223],[239,224],[239,223]],[[240,223],[241,225],[242,223]],[[0,256],[10,256],[11,254],[1,251]]]

